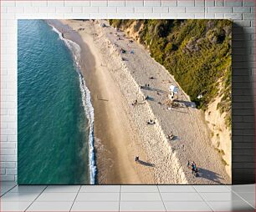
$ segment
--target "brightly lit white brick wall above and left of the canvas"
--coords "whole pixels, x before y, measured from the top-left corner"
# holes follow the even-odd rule
[[[1,180],[17,179],[18,18],[232,18],[246,35],[234,30],[233,37],[250,47],[244,53],[254,68],[254,7],[254,0],[1,1]],[[243,42],[234,47],[242,53]]]

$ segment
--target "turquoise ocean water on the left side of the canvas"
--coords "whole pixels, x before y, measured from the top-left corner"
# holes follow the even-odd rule
[[[87,102],[64,39],[43,20],[18,20],[18,184],[94,184]]]

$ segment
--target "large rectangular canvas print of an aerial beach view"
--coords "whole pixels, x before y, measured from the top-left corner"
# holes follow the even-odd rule
[[[18,184],[231,184],[232,22],[18,20]]]

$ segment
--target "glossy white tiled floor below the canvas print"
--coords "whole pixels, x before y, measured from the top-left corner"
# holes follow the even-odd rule
[[[18,186],[1,182],[0,211],[254,211],[255,184]]]

